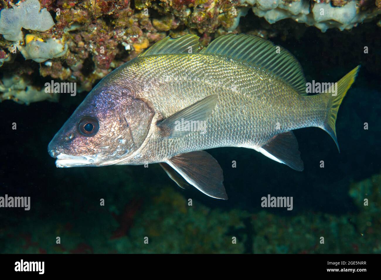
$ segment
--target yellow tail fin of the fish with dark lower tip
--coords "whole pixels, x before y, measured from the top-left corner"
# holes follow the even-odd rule
[[[339,149],[339,143],[337,142],[336,137],[336,117],[337,112],[339,110],[340,104],[344,99],[344,96],[346,95],[347,91],[351,87],[352,83],[355,81],[355,78],[357,76],[357,72],[359,72],[360,65],[357,66],[355,69],[351,70],[347,75],[345,75],[343,78],[341,78],[337,82],[336,86],[336,93],[325,93],[329,94],[330,101],[328,102],[328,115],[327,119],[325,120],[324,130],[327,131],[328,134],[331,135],[333,141],[335,141],[336,146],[340,152]]]

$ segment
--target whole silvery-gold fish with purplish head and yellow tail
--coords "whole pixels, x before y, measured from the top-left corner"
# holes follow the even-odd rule
[[[275,47],[240,34],[199,51],[195,35],[167,37],[99,82],[48,152],[58,167],[160,163],[179,186],[223,199],[221,167],[205,149],[251,148],[301,171],[292,130],[320,127],[337,144],[338,107],[359,67],[335,94],[307,96],[300,64]]]

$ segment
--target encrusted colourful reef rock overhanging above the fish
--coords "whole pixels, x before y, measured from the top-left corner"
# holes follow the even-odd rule
[[[231,32],[298,40],[308,26],[353,36],[364,22],[366,32],[381,27],[381,0],[1,0],[0,8],[0,101],[22,104],[57,100],[41,78],[90,91],[166,35],[197,34],[206,46]]]

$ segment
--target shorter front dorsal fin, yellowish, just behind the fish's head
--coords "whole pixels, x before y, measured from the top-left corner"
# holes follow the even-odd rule
[[[150,48],[138,56],[173,53],[197,53],[199,51],[199,38],[199,36],[194,34],[187,34],[178,38],[171,38],[167,36],[164,39],[154,43],[154,45],[150,46]]]

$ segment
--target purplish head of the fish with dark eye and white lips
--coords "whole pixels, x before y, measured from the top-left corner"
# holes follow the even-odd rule
[[[48,153],[57,167],[118,164],[142,145],[153,115],[128,90],[98,85],[56,133]]]

